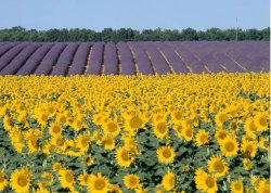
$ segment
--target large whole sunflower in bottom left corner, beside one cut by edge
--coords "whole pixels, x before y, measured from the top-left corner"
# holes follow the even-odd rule
[[[31,172],[28,169],[16,169],[11,175],[10,185],[15,192],[28,192],[31,184]]]

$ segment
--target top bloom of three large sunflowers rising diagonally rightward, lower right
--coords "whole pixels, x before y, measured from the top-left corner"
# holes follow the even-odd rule
[[[237,154],[238,152],[238,142],[235,138],[227,137],[220,144],[220,149],[224,156],[231,157]]]

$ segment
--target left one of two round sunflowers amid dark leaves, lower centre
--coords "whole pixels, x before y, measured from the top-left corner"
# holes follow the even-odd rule
[[[117,164],[121,167],[130,167],[134,158],[127,147],[120,146],[116,150]]]

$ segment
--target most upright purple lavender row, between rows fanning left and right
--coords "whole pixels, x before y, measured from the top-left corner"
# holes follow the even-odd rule
[[[115,43],[108,42],[104,47],[104,75],[118,74],[118,56]]]

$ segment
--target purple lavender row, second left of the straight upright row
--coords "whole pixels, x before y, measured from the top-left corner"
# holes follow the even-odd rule
[[[89,50],[92,43],[83,42],[80,43],[77,52],[75,53],[73,65],[68,72],[68,76],[73,75],[82,75],[85,66],[87,65]]]

